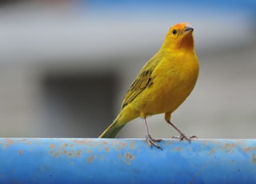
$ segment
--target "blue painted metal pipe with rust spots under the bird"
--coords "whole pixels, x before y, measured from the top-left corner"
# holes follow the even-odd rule
[[[256,140],[0,138],[0,183],[256,183]]]

